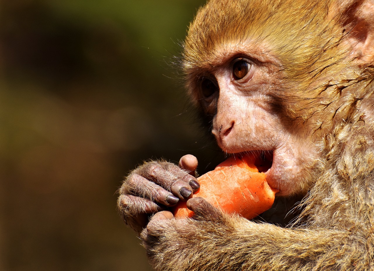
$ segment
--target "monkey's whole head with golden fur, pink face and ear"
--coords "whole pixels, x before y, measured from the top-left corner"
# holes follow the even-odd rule
[[[282,195],[307,189],[326,137],[359,118],[374,74],[372,24],[353,2],[208,2],[190,25],[183,68],[220,148],[265,154]]]

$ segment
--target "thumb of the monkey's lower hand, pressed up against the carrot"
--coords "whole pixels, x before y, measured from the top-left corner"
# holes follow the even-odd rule
[[[223,219],[221,210],[202,197],[194,197],[187,200],[187,208],[195,213],[193,218],[196,220],[217,221]]]

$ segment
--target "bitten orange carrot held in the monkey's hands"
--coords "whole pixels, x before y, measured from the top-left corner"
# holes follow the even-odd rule
[[[229,213],[238,213],[252,219],[272,207],[275,189],[270,188],[265,174],[258,172],[254,157],[232,157],[214,170],[197,178],[200,189],[192,197],[203,197],[211,204]],[[176,218],[194,215],[185,201],[173,208]]]

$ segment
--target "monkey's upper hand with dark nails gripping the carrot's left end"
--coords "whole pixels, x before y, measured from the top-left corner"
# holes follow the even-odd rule
[[[123,181],[117,202],[125,223],[139,234],[152,213],[186,201],[200,187],[196,167],[196,157],[187,154],[179,166],[150,161],[133,170]]]

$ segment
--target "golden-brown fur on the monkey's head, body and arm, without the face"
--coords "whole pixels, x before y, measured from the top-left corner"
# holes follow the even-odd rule
[[[374,35],[373,10],[373,1],[327,0],[211,0],[199,9],[183,55],[195,104],[196,78],[228,47],[270,55],[282,125],[311,131],[318,158],[294,184],[291,194],[307,195],[286,228],[199,199],[195,219],[155,216],[141,234],[155,270],[374,270],[374,43],[357,38]]]

